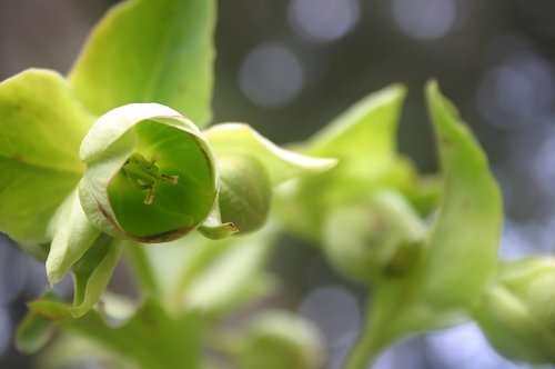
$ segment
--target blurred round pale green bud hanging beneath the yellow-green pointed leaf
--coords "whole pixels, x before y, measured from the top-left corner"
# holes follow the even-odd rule
[[[324,252],[345,276],[371,283],[405,272],[417,259],[424,226],[402,197],[380,191],[339,208],[324,227]]]

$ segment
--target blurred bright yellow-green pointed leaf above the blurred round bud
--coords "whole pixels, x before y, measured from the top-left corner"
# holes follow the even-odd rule
[[[402,86],[372,93],[297,148],[305,154],[337,158],[339,163],[276,191],[275,209],[287,231],[321,243],[325,218],[333,209],[357,202],[374,189],[403,191],[414,186],[414,168],[396,153],[404,97]]]

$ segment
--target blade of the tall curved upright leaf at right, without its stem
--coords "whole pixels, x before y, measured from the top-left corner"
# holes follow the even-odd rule
[[[426,293],[437,306],[468,306],[495,272],[501,193],[480,143],[435,82],[427,86],[427,101],[445,184],[423,266],[430,270]],[[468,235],[477,237],[468,239]]]

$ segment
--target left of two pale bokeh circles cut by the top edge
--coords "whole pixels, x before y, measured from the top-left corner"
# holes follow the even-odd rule
[[[361,7],[357,0],[292,0],[287,14],[302,38],[329,42],[343,38],[356,27]]]

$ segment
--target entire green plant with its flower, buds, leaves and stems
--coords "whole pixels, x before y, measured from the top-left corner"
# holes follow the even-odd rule
[[[319,333],[290,313],[222,333],[224,319],[279,286],[265,266],[291,232],[373,289],[345,369],[471,318],[501,353],[555,361],[553,260],[498,268],[498,188],[435,82],[426,99],[438,176],[396,151],[402,86],[294,150],[244,123],[201,131],[214,23],[212,0],[129,0],[95,27],[68,81],[28,70],[0,83],[0,230],[28,252],[48,250],[52,285],[74,280],[72,302],[48,292],[29,303],[20,350],[61,330],[110,350],[114,367],[218,368],[204,355],[213,351],[243,369],[316,369]],[[139,301],[104,293],[121,255]]]

